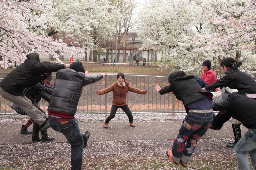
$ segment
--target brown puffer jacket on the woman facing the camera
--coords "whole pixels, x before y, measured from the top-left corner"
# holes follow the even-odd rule
[[[128,91],[135,92],[141,95],[144,95],[147,93],[146,90],[140,90],[140,89],[134,88],[130,85],[127,85],[126,83],[125,83],[125,86],[121,87],[118,85],[116,81],[113,84],[111,84],[109,87],[100,90],[99,95],[104,95],[110,91],[113,91],[112,105],[116,105],[116,106],[124,106],[127,104],[126,94]]]

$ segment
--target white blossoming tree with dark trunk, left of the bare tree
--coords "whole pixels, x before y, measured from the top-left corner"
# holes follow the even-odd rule
[[[52,27],[65,32],[74,43],[93,50],[93,62],[97,62],[97,48],[103,41],[112,38],[117,11],[108,0],[81,1],[56,0],[55,18]]]

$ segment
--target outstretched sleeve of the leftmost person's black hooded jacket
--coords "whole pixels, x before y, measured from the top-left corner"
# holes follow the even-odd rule
[[[35,62],[31,69],[35,73],[49,73],[49,72],[56,72],[58,70],[65,69],[65,68],[66,66],[64,64]]]

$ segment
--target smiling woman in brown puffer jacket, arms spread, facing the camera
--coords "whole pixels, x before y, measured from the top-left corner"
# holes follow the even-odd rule
[[[112,107],[111,107],[110,115],[105,120],[103,127],[108,128],[108,123],[111,119],[113,119],[115,117],[116,111],[118,108],[121,108],[124,110],[124,112],[126,113],[126,115],[129,118],[130,126],[135,127],[135,125],[133,123],[132,112],[126,102],[126,94],[128,91],[131,91],[131,92],[135,92],[135,93],[144,95],[147,93],[148,89],[140,90],[140,89],[130,86],[124,80],[123,73],[118,73],[116,80],[117,80],[116,82],[114,82],[113,84],[111,84],[109,87],[107,87],[105,89],[102,89],[102,90],[95,89],[95,91],[98,95],[104,95],[110,91],[113,91],[113,100],[112,100]]]

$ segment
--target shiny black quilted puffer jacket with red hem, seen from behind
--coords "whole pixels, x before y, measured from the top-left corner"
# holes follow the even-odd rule
[[[101,78],[101,74],[85,75],[73,69],[58,71],[48,111],[75,115],[83,87],[99,81]]]

